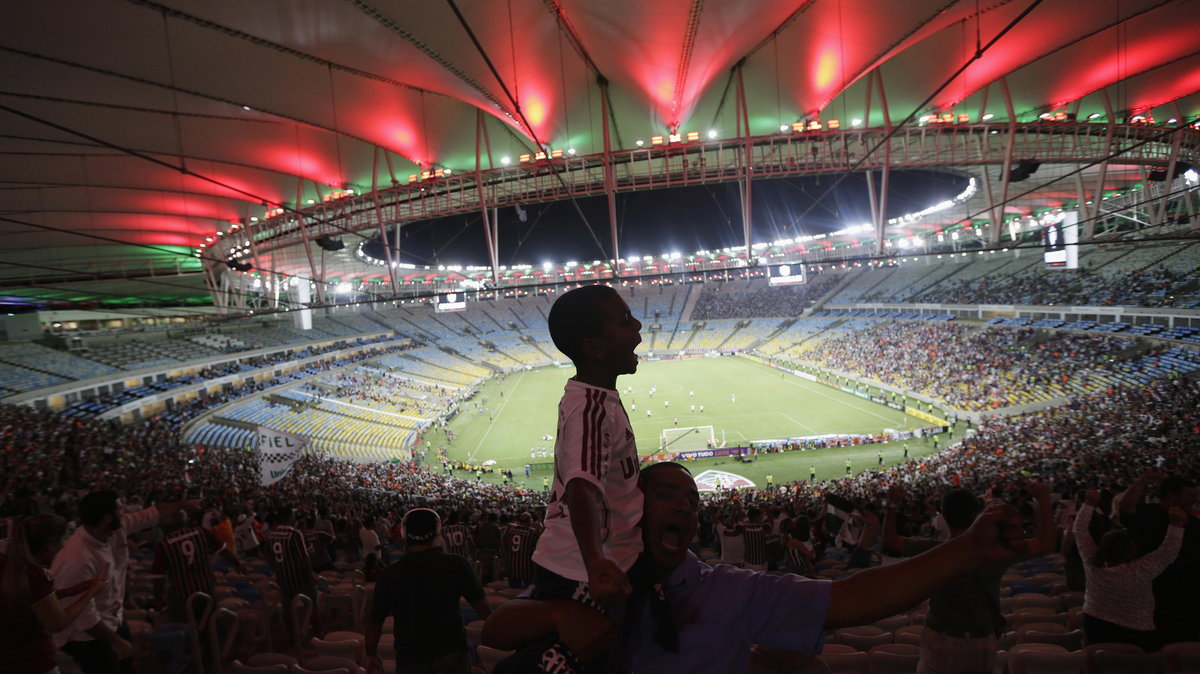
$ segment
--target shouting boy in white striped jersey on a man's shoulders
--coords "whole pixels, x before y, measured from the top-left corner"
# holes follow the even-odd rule
[[[617,377],[637,371],[642,324],[616,290],[584,285],[554,302],[548,325],[576,373],[558,404],[554,481],[533,554],[532,596],[619,610],[631,591],[626,573],[642,552],[642,493]]]

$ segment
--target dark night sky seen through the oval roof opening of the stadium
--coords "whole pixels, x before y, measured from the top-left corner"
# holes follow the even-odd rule
[[[835,180],[836,176],[826,175],[755,181],[752,241],[822,234],[869,223],[870,203],[864,175],[850,175],[826,194]],[[955,173],[893,171],[888,217],[953,198],[966,182],[964,175]],[[822,194],[826,195],[817,204]],[[605,198],[577,199],[576,204],[578,209],[569,200],[523,205],[526,222],[520,221],[516,209],[500,209],[500,265],[607,259],[611,237]],[[733,182],[620,193],[617,195],[620,255],[692,253],[739,246],[743,243],[740,212],[738,185]],[[367,246],[367,254],[383,258],[377,241]],[[481,217],[469,213],[403,225],[401,261],[486,265]]]

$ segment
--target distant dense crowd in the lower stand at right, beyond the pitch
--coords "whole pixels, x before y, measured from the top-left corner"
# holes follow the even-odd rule
[[[889,321],[838,333],[798,357],[973,411],[1064,397],[1097,384],[1133,343],[1090,333],[979,330],[954,323]]]

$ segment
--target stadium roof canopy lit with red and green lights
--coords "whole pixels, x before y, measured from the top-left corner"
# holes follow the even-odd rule
[[[617,149],[737,138],[739,83],[752,136],[883,126],[883,96],[893,124],[1188,124],[1198,35],[1188,0],[10,4],[0,300],[206,303],[205,236],[269,206],[474,170],[480,113],[485,169],[538,144],[601,152],[602,102]],[[1105,187],[1142,177],[1114,166]],[[1064,198],[1048,183],[1008,206]],[[299,273],[301,257],[275,266]]]

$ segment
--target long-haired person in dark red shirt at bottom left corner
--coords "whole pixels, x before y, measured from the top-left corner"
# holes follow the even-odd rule
[[[43,674],[55,669],[53,632],[64,630],[108,582],[92,578],[54,591],[47,568],[62,547],[66,520],[35,514],[10,528],[7,555],[0,556],[0,672]],[[59,597],[78,595],[66,608]]]

